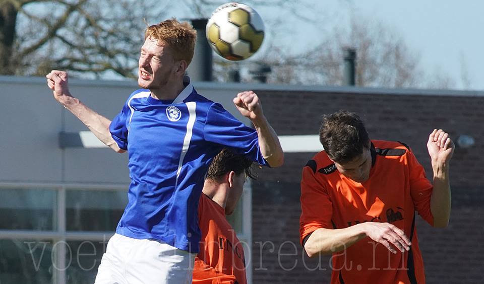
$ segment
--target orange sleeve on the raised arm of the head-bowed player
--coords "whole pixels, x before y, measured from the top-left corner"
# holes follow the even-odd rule
[[[430,209],[430,199],[434,186],[425,174],[422,165],[418,163],[413,153],[407,154],[409,173],[410,173],[410,194],[413,206],[423,220],[434,226],[434,216]]]

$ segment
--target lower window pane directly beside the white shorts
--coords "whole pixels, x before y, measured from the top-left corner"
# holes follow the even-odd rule
[[[92,284],[96,278],[97,268],[102,254],[106,250],[107,240],[103,241],[69,241],[70,250],[66,251],[66,280],[72,284]],[[72,258],[71,258],[72,257]]]

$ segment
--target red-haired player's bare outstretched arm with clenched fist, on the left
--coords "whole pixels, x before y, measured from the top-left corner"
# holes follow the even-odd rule
[[[54,99],[71,111],[106,146],[117,153],[126,152],[119,148],[109,132],[111,121],[84,105],[69,92],[68,74],[52,70],[47,76],[47,86],[53,91]]]

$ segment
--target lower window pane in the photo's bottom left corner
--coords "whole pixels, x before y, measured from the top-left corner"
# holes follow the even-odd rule
[[[52,283],[52,243],[0,240],[0,283]]]

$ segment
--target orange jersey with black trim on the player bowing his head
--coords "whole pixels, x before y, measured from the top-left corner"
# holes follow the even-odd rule
[[[363,183],[341,175],[324,151],[304,167],[300,241],[304,245],[310,234],[320,228],[391,223],[410,238],[410,250],[393,254],[368,237],[361,239],[333,254],[331,283],[425,283],[414,217],[416,210],[433,225],[433,186],[405,145],[372,140],[371,151],[370,178]]]

